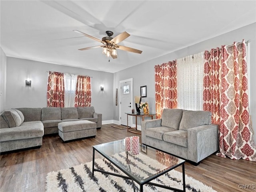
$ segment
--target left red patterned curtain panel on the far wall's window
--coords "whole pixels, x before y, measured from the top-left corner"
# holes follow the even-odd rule
[[[64,74],[48,73],[47,107],[64,107]]]

